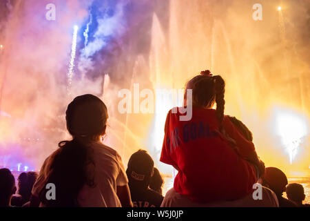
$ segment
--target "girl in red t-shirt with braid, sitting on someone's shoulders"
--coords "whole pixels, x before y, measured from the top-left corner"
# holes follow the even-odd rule
[[[225,81],[206,70],[186,89],[192,90],[192,99],[187,100],[185,92],[184,102],[187,110],[192,105],[192,119],[180,121],[186,113],[169,111],[161,153],[161,162],[178,170],[174,189],[196,202],[248,195],[262,166],[254,144],[224,115]]]

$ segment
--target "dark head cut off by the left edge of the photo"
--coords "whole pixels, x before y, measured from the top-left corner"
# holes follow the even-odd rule
[[[14,175],[9,169],[0,169],[0,200],[7,200],[12,195],[15,186]]]

